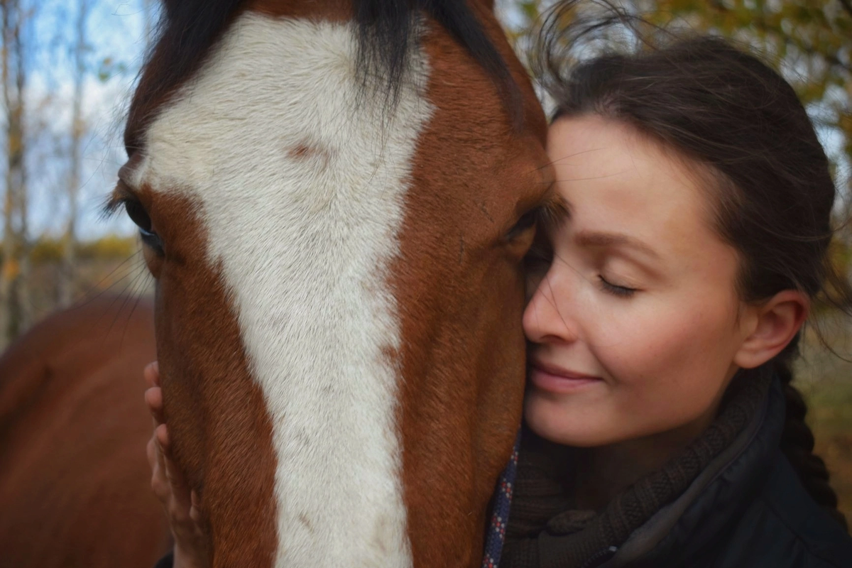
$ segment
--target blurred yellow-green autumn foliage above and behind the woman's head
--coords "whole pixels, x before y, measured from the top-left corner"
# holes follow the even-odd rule
[[[754,46],[797,89],[815,123],[843,136],[844,153],[852,158],[852,0],[611,1],[655,24],[686,24]],[[498,3],[509,38],[521,40],[554,4]]]

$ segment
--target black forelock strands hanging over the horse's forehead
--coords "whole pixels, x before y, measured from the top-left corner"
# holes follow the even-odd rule
[[[509,67],[469,8],[471,0],[353,0],[358,26],[357,71],[364,89],[383,89],[397,100],[406,74],[417,15],[427,14],[452,34],[497,83],[518,123],[521,95]],[[147,121],[169,96],[204,63],[210,49],[240,14],[243,0],[164,0],[158,41],[147,55],[130,103],[124,146],[128,155],[141,147]],[[367,77],[385,77],[371,85]]]

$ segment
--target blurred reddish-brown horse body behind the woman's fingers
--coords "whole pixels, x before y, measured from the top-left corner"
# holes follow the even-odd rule
[[[145,459],[154,353],[151,303],[101,297],[0,357],[0,566],[150,568],[169,545]]]

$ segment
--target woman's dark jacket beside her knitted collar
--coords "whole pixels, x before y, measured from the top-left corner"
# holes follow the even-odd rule
[[[746,427],[686,491],[619,546],[587,554],[579,566],[852,568],[852,538],[811,499],[779,450],[785,405],[775,380]],[[559,552],[565,538],[538,535],[540,568],[566,565]]]

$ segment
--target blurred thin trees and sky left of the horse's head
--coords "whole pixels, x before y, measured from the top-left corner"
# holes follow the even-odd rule
[[[120,101],[158,15],[159,0],[0,0],[0,350],[116,262],[81,239],[103,232],[91,225],[124,159]],[[122,266],[122,285],[141,286]]]

